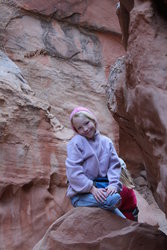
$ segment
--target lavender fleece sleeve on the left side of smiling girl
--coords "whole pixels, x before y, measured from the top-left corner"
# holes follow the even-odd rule
[[[88,193],[93,185],[84,173],[83,155],[77,143],[71,141],[67,145],[66,174],[71,188],[76,193]]]

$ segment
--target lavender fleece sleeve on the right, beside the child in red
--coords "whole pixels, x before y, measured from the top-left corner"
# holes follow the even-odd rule
[[[111,141],[110,142],[110,164],[109,164],[107,177],[108,177],[109,183],[113,187],[116,187],[118,192],[122,190],[122,183],[120,181],[120,176],[121,176],[121,164],[119,161],[119,157],[116,153],[115,147]]]

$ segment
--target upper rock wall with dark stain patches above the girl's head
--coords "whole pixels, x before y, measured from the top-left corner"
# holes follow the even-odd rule
[[[118,128],[104,89],[110,65],[124,54],[117,1],[14,2],[1,4],[1,47],[36,96],[48,101],[68,128],[74,106],[95,110],[100,128],[117,143]]]

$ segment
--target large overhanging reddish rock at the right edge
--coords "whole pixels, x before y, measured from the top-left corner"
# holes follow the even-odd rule
[[[146,169],[154,197],[167,214],[166,37],[167,22],[151,1],[135,1],[127,55],[112,67],[108,96],[121,130],[120,154],[134,175]]]

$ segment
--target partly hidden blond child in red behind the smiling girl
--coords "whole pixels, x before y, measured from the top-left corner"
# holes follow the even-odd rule
[[[119,209],[126,216],[127,219],[138,221],[139,210],[137,207],[136,195],[133,190],[135,186],[129,171],[126,168],[126,164],[121,158],[120,163],[122,166],[120,181],[123,184],[123,189],[120,193],[122,202],[119,206]]]

